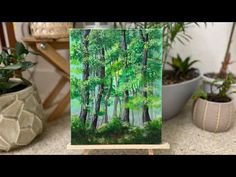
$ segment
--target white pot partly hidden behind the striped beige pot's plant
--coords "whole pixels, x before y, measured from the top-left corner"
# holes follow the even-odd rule
[[[206,76],[202,76],[203,78],[203,89],[207,92],[207,93],[211,93],[211,83],[214,81],[214,79],[206,77]],[[214,83],[214,85],[212,86],[212,90],[213,93],[218,93],[219,90],[217,88],[217,86],[221,85],[223,83],[223,81],[218,81],[216,83]],[[231,88],[229,90],[229,92],[232,91],[236,91],[236,84],[232,84]],[[233,100],[233,104],[234,104],[234,108],[236,110],[236,94],[230,94],[229,97]]]

